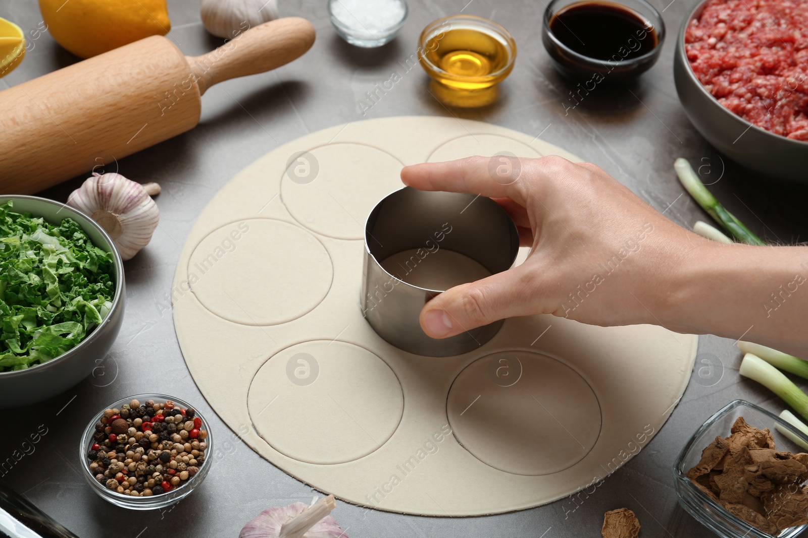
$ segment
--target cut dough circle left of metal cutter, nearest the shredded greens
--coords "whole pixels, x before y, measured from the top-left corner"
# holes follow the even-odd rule
[[[196,298],[213,314],[242,325],[286,323],[307,314],[326,297],[333,276],[322,243],[276,219],[226,224],[205,236],[188,260]]]

